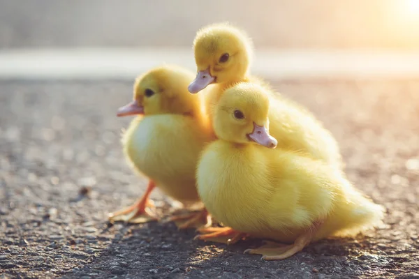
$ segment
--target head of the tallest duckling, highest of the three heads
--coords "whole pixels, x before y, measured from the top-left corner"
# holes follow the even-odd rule
[[[198,93],[212,83],[240,81],[247,75],[251,40],[228,23],[200,29],[193,41],[193,50],[198,74],[188,87],[191,93]]]

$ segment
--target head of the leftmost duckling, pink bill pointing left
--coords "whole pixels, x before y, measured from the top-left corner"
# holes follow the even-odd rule
[[[120,107],[117,116],[134,114],[191,114],[200,112],[200,100],[187,91],[193,73],[177,66],[161,66],[140,75],[133,101]]]

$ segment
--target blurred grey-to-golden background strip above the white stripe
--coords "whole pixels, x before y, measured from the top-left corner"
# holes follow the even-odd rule
[[[258,48],[419,49],[418,0],[1,0],[0,47],[189,47],[230,21]]]

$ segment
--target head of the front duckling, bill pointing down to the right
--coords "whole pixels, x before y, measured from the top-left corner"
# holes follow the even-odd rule
[[[263,87],[249,82],[227,89],[214,113],[214,132],[220,140],[277,147],[269,134],[269,98]]]

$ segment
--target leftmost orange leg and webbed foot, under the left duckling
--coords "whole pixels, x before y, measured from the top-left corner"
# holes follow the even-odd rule
[[[144,195],[142,195],[142,197],[138,199],[135,204],[128,206],[126,209],[110,213],[109,219],[114,221],[124,221],[126,223],[147,223],[152,220],[157,220],[154,213],[152,213],[149,207],[147,207],[152,205],[149,201],[149,195],[155,187],[156,184],[150,180]]]

